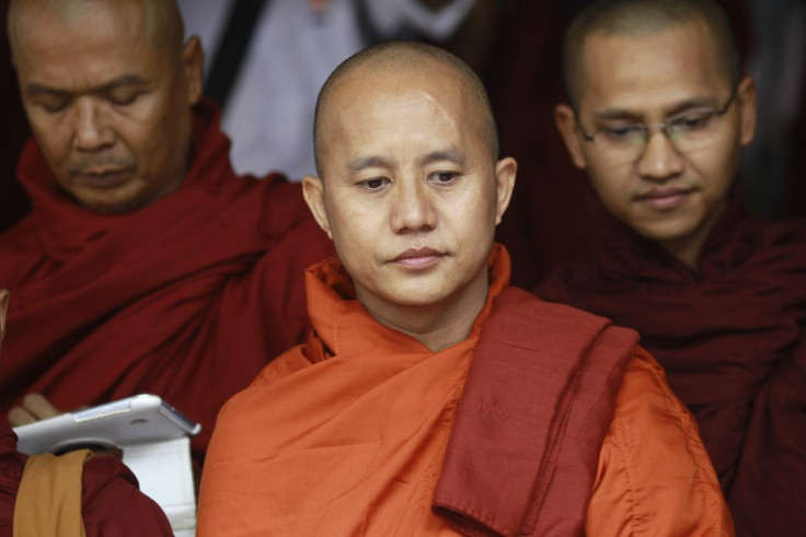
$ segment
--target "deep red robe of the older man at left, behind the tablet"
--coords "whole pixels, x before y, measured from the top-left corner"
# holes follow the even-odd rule
[[[26,145],[34,212],[0,237],[3,420],[30,392],[62,409],[153,393],[203,423],[199,456],[219,407],[304,339],[303,271],[330,241],[298,184],[234,175],[209,102],[194,121],[180,189],[127,214],[76,205]]]

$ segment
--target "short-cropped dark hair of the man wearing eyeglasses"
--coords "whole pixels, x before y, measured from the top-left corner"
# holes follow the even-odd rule
[[[591,35],[642,38],[691,23],[706,28],[714,65],[737,82],[739,59],[733,28],[712,0],[600,0],[577,15],[565,34],[565,85],[572,104],[579,105],[586,85],[585,46]]]

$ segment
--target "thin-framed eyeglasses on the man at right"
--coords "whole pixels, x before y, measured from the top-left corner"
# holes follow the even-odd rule
[[[719,132],[719,118],[728,110],[735,97],[736,87],[734,86],[727,103],[719,109],[710,106],[692,108],[656,125],[618,122],[602,126],[590,135],[585,132],[578,120],[577,125],[586,141],[595,142],[612,156],[637,159],[643,153],[654,130],[663,131],[675,149],[684,153],[702,148],[716,138]]]

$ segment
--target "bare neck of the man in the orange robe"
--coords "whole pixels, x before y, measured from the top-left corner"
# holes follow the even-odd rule
[[[364,304],[380,324],[410,336],[430,351],[464,341],[487,300],[487,275],[471,281],[461,292],[436,304]]]

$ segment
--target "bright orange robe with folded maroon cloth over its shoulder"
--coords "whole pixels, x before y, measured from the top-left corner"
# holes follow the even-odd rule
[[[430,351],[337,259],[314,327],[221,410],[198,535],[730,535],[693,419],[632,330],[507,288]],[[626,478],[629,476],[629,479]]]

